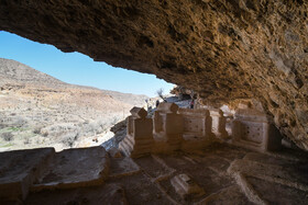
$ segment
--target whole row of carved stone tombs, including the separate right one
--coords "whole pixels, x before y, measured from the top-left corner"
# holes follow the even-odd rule
[[[128,119],[127,137],[120,150],[135,158],[150,153],[202,150],[215,141],[231,143],[256,151],[282,148],[282,135],[268,116],[257,110],[238,109],[231,122],[231,136],[226,130],[221,110],[178,109],[175,103],[161,103],[152,118],[144,109],[133,107]],[[232,140],[230,141],[230,137]]]

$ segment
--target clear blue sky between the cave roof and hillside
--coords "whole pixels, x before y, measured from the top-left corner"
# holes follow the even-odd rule
[[[0,31],[0,58],[20,61],[64,82],[105,90],[155,96],[160,88],[167,94],[174,87],[154,75],[114,68],[82,54],[63,53],[52,45],[3,31]]]

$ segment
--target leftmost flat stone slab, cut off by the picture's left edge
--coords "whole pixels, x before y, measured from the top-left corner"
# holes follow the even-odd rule
[[[54,148],[2,152],[0,198],[24,200],[30,186],[47,170],[54,153]]]

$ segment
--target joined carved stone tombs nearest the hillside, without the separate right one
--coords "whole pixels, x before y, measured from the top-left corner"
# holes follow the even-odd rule
[[[161,103],[153,119],[146,117],[144,109],[133,107],[131,114],[127,136],[119,148],[132,158],[176,150],[201,150],[216,137],[221,137],[220,133],[216,137],[212,133],[212,118],[208,110],[179,110],[175,103]]]

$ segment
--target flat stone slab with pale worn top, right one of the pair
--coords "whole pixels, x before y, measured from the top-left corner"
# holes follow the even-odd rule
[[[109,164],[109,155],[101,146],[63,150],[31,191],[100,185],[108,176]]]

